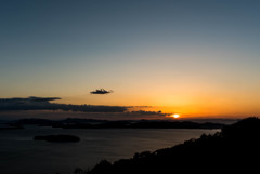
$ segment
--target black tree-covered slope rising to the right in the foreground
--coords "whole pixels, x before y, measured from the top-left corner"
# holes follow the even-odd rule
[[[247,118],[214,135],[202,135],[171,148],[135,153],[114,163],[101,161],[90,171],[75,174],[234,173],[259,170],[260,120]]]

